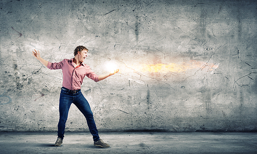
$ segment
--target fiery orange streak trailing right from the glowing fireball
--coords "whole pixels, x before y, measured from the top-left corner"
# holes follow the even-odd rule
[[[214,69],[218,68],[218,65],[215,64],[210,64],[206,62],[197,62],[197,61],[190,61],[188,63],[182,63],[182,64],[175,64],[175,63],[170,63],[170,64],[150,64],[146,65],[144,64],[141,67],[141,71],[143,72],[162,72],[162,73],[167,73],[167,72],[185,72],[189,69],[207,69],[207,71],[212,71]]]

